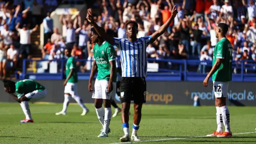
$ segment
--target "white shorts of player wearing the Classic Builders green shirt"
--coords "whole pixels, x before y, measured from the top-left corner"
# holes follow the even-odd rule
[[[108,80],[95,80],[94,90],[92,93],[92,98],[96,99],[104,99],[104,100],[111,100],[116,96],[116,82],[113,82],[113,90],[108,93]]]

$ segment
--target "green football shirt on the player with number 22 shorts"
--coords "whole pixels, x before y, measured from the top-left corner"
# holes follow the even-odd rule
[[[232,53],[233,47],[227,38],[222,38],[215,46],[213,53],[212,66],[216,59],[224,59],[216,72],[212,75],[212,81],[229,82],[232,80]]]

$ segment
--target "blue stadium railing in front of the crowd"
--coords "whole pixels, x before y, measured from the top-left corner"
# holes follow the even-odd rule
[[[28,62],[36,62],[36,70],[29,72],[26,70]],[[83,66],[86,64],[88,69],[80,72],[78,66],[78,79],[88,80],[90,78],[90,67],[92,61],[77,59]],[[62,80],[65,74],[66,59],[56,60],[23,60],[23,70],[18,79],[37,79],[37,80]],[[118,67],[120,63],[118,62]],[[200,60],[176,60],[176,59],[156,59],[148,58],[147,80],[152,81],[203,81],[207,73],[212,68],[211,61]],[[256,81],[256,61],[233,61],[232,62],[232,81]]]

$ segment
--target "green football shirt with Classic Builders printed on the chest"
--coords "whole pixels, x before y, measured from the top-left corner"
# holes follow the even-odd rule
[[[110,61],[116,60],[116,51],[108,42],[104,41],[101,46],[94,45],[93,48],[94,60],[98,66],[98,80],[109,80],[110,78]],[[116,65],[114,65],[113,82],[116,82]]]

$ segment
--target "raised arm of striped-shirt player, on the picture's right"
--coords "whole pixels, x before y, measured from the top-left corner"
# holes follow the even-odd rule
[[[156,41],[156,39],[161,36],[162,34],[164,34],[164,32],[167,30],[167,28],[170,26],[171,22],[174,20],[174,18],[176,17],[178,11],[176,9],[176,6],[174,6],[172,8],[172,14],[170,16],[170,18],[167,20],[167,22],[165,24],[163,24],[156,32],[154,32],[151,36],[151,40],[150,43],[153,43],[154,41]]]

